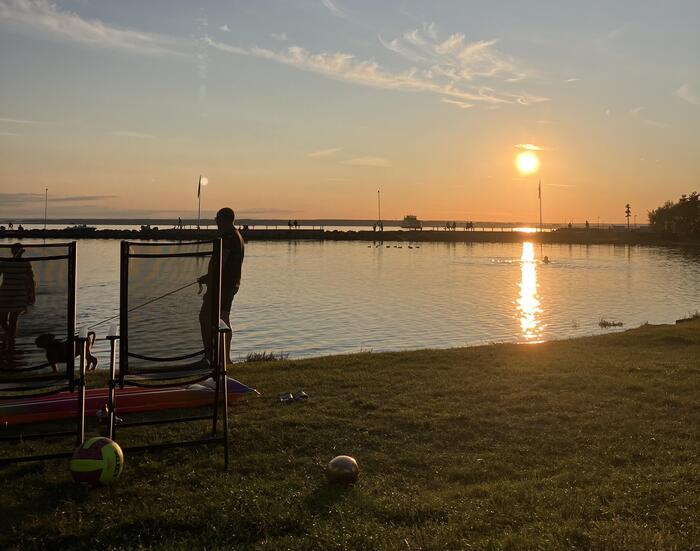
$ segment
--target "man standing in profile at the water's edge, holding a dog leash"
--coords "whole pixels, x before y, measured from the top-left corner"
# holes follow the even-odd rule
[[[233,225],[236,215],[233,210],[225,207],[216,213],[216,227],[221,237],[221,319],[231,327],[231,305],[233,297],[238,293],[241,286],[241,270],[243,268],[243,257],[245,256],[245,243],[243,236]],[[199,326],[202,330],[202,342],[206,349],[211,342],[212,330],[217,331],[218,327],[211,327],[211,297],[209,296],[209,282],[212,278],[213,263],[209,263],[209,270],[200,277],[197,282],[200,285],[207,285],[204,293],[202,309],[199,312]],[[231,361],[231,343],[227,343],[226,363]],[[210,354],[207,354],[210,357]]]

